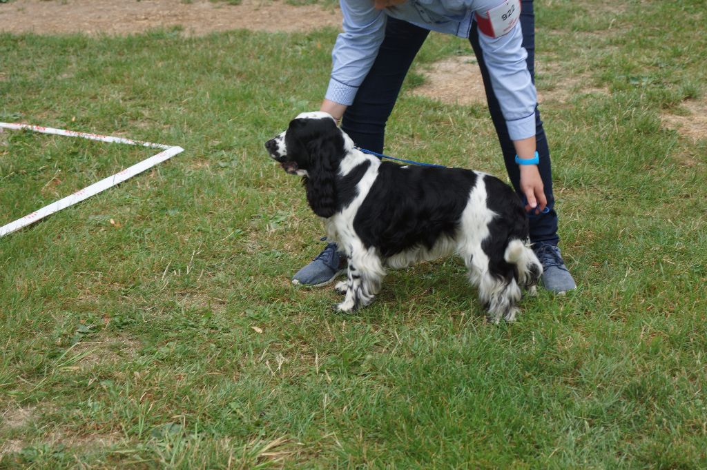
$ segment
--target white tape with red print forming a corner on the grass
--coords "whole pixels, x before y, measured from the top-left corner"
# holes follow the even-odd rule
[[[59,210],[66,209],[66,207],[70,207],[76,203],[80,203],[82,200],[88,199],[92,195],[96,195],[102,191],[105,191],[107,188],[111,188],[112,186],[122,183],[123,181],[132,178],[136,174],[142,173],[146,169],[154,167],[156,164],[164,162],[166,159],[170,159],[178,153],[184,152],[184,149],[182,147],[172,145],[142,142],[141,140],[112,137],[111,135],[99,135],[76,131],[66,131],[65,129],[54,129],[51,127],[44,126],[30,126],[29,124],[0,122],[0,128],[16,130],[25,129],[28,131],[40,132],[45,134],[66,135],[67,137],[80,137],[89,140],[98,140],[100,142],[124,143],[128,145],[140,145],[142,147],[163,149],[163,151],[159,152],[157,155],[153,155],[152,157],[146,158],[142,162],[134,164],[132,167],[128,167],[126,169],[118,171],[114,175],[108,176],[107,178],[93,183],[90,186],[86,186],[86,188],[80,189],[72,195],[66,196],[66,198],[54,201],[54,203],[45,205],[45,207],[42,207],[40,210],[32,212],[31,214],[25,215],[25,217],[22,217],[21,219],[17,219],[15,222],[10,222],[9,224],[0,227],[0,237],[11,234],[13,231],[17,231],[23,227],[28,226],[29,224],[33,224],[34,222],[37,222],[37,220],[47,217],[47,215],[54,214],[54,212],[59,212]]]

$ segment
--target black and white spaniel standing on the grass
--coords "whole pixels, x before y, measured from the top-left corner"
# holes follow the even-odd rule
[[[498,322],[515,320],[521,288],[534,294],[542,265],[530,248],[525,209],[512,188],[479,171],[400,166],[354,147],[327,113],[303,113],[265,143],[349,258],[337,309],[367,306],[386,267],[457,253]]]

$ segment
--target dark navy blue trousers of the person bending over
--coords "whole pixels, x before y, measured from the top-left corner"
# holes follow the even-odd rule
[[[520,24],[523,32],[522,44],[528,53],[527,67],[534,83],[535,21],[532,0],[522,1]],[[407,21],[388,18],[385,28],[385,40],[380,46],[373,67],[368,72],[366,79],[363,80],[361,88],[358,89],[354,103],[346,109],[344,118],[341,121],[341,128],[351,136],[359,147],[382,153],[385,123],[395,106],[407,71],[428,34],[428,30],[411,25]],[[486,101],[489,104],[493,126],[496,127],[498,142],[501,143],[508,176],[511,183],[513,183],[515,191],[518,191],[522,197],[520,192],[520,171],[518,170],[518,164],[515,163],[515,147],[513,147],[513,141],[508,136],[506,120],[503,119],[501,107],[496,99],[496,94],[493,92],[489,70],[486,68],[484,55],[481,53],[481,47],[479,46],[479,32],[476,25],[472,25],[469,42],[472,44],[472,49],[474,49],[474,54],[476,54],[479,62],[479,68],[481,68],[481,77],[484,79],[486,88]],[[550,211],[546,214],[530,215],[530,240],[556,244],[559,241],[559,237],[557,236],[557,214],[554,210],[555,200],[552,195],[550,150],[537,107],[535,116],[535,138],[537,140],[537,152],[540,157],[538,169],[542,177]]]

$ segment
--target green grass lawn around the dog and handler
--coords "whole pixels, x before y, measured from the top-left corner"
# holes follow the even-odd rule
[[[542,107],[579,289],[498,327],[452,259],[346,317],[289,284],[322,229],[262,144],[319,106],[336,31],[0,35],[0,120],[186,149],[0,240],[0,467],[707,466],[707,141],[660,121],[705,99],[707,9],[537,9],[539,89],[607,92]],[[405,92],[387,135],[504,174],[483,107]],[[151,153],[6,131],[0,224]]]

